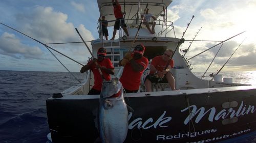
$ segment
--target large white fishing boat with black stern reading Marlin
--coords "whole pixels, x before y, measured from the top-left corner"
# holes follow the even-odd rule
[[[108,28],[112,28],[115,17],[111,0],[97,2],[101,15],[109,21]],[[167,20],[167,7],[172,1],[142,2],[119,1],[130,36],[120,30],[115,40],[104,40],[98,23],[99,38],[91,41],[92,54],[96,56],[98,48],[106,48],[106,57],[115,67],[112,78],[119,78],[122,68],[118,62],[134,45],[146,47],[144,56],[149,61],[166,49],[173,49],[175,67],[171,72],[176,89],[180,90],[170,90],[167,83],[153,83],[153,92],[145,92],[143,80],[149,73],[147,68],[141,77],[140,90],[123,94],[126,104],[133,108],[128,115],[124,142],[233,142],[256,134],[256,87],[233,83],[230,79],[222,81],[219,75],[214,80],[197,77],[179,52],[184,42],[182,37],[176,37],[173,22]],[[146,7],[159,19],[155,21],[155,34],[141,24],[141,14]],[[47,99],[49,140],[97,140],[100,95],[87,95],[93,84],[93,73],[89,71],[81,83]]]

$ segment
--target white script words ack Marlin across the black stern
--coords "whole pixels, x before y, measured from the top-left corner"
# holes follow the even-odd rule
[[[228,109],[222,109],[221,111],[217,112],[216,107],[211,107],[208,110],[205,109],[205,107],[197,108],[196,105],[191,105],[189,107],[186,107],[181,110],[181,112],[190,110],[189,115],[184,120],[184,124],[187,125],[190,120],[193,118],[195,119],[195,123],[199,123],[201,119],[204,117],[208,117],[208,121],[214,122],[218,121],[220,119],[226,119],[226,118],[233,118],[233,117],[240,117],[244,115],[248,115],[249,113],[255,112],[255,107],[253,105],[246,105],[242,101],[238,110],[234,110],[233,108]],[[133,129],[137,127],[138,129],[149,129],[149,128],[165,128],[170,125],[170,121],[172,120],[172,117],[166,116],[166,111],[162,113],[162,115],[154,121],[153,118],[148,118],[147,120],[144,120],[142,118],[137,118],[131,121],[133,116],[133,113],[129,113],[129,129]]]

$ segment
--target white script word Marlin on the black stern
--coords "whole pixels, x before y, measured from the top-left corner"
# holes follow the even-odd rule
[[[192,110],[190,109],[192,108]],[[199,123],[200,120],[209,112],[208,121],[213,122],[218,121],[219,119],[225,119],[225,118],[233,118],[233,117],[239,117],[248,115],[249,113],[253,113],[255,111],[255,107],[251,105],[244,105],[244,102],[242,101],[238,110],[234,110],[233,108],[229,109],[223,109],[220,112],[216,112],[215,107],[211,107],[207,111],[205,111],[205,107],[201,107],[197,109],[196,105],[191,105],[189,107],[186,107],[185,109],[181,110],[181,112],[184,112],[186,110],[190,109],[190,113],[187,116],[187,118],[184,120],[184,124],[187,125],[187,123],[192,120],[196,115],[196,123]]]

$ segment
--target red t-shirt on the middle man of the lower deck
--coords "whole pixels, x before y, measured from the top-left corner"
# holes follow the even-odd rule
[[[144,56],[142,56],[142,58],[138,60],[135,60],[135,62],[142,65],[144,69],[140,72],[135,72],[132,68],[131,63],[128,62],[124,66],[123,73],[120,78],[120,82],[122,83],[123,88],[130,91],[135,91],[140,88],[140,78],[148,64],[148,60]]]

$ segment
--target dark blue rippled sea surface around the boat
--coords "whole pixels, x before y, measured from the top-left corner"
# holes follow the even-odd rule
[[[206,79],[210,74],[205,74]],[[233,82],[256,85],[256,71],[220,72]],[[80,81],[85,73],[73,73]],[[203,73],[195,73],[201,78]],[[0,142],[45,143],[50,132],[46,99],[78,81],[68,72],[0,70]]]

